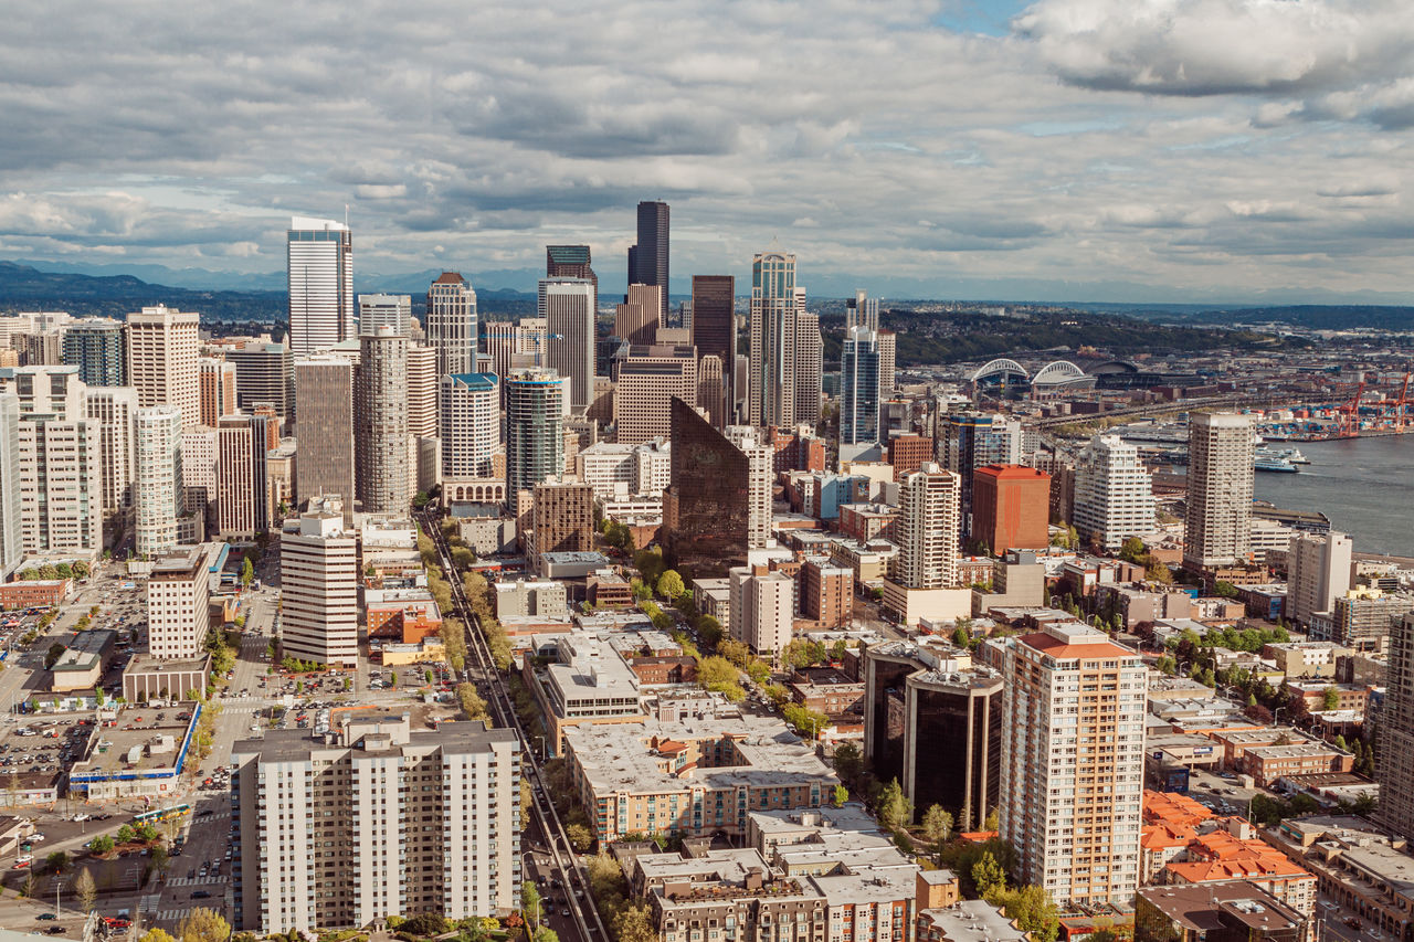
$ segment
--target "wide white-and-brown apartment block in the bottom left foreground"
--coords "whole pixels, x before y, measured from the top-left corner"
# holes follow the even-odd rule
[[[301,934],[390,914],[450,919],[520,905],[520,744],[513,730],[342,711],[329,735],[235,744],[236,929]]]

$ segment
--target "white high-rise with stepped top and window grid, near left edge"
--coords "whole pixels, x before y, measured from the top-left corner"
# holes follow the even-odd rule
[[[96,557],[103,547],[99,423],[78,366],[0,369],[20,399],[20,521],[30,556]]]

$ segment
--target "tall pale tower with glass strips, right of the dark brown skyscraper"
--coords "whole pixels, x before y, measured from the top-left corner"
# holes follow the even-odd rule
[[[751,263],[751,375],[748,421],[789,427],[796,420],[796,260],[764,252]]]

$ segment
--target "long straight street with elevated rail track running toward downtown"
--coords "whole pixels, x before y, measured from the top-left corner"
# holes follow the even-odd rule
[[[426,511],[420,515],[420,519],[423,530],[437,547],[443,571],[451,584],[452,608],[455,608],[457,615],[467,627],[467,651],[475,662],[475,668],[468,663],[468,673],[478,678],[479,682],[477,686],[484,693],[491,694],[488,703],[496,723],[513,728],[520,735],[520,774],[530,779],[530,808],[534,816],[534,827],[523,827],[523,830],[530,835],[539,832],[546,842],[544,850],[534,856],[536,870],[543,873],[546,871],[544,864],[549,864],[549,873],[559,874],[563,891],[557,895],[563,895],[564,898],[564,902],[559,904],[559,907],[568,909],[573,925],[583,942],[609,942],[608,929],[604,926],[600,911],[594,905],[594,897],[590,892],[588,876],[570,847],[570,839],[564,833],[564,825],[560,820],[559,812],[556,812],[554,805],[549,801],[549,791],[544,786],[540,765],[536,761],[534,752],[525,748],[529,740],[525,730],[520,728],[520,720],[516,716],[515,704],[501,678],[501,672],[491,659],[491,648],[486,645],[486,638],[481,631],[481,622],[467,603],[461,577],[451,563],[451,550],[447,546],[447,537],[441,532],[440,521]],[[522,825],[525,826],[526,822],[522,822]],[[533,874],[522,870],[522,878],[533,878]],[[566,938],[563,931],[560,932],[560,938]]]

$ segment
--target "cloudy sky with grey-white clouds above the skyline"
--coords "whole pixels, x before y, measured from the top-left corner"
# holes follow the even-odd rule
[[[269,273],[348,204],[359,274],[621,290],[660,198],[674,287],[1414,301],[1408,0],[6,6],[0,259]]]

